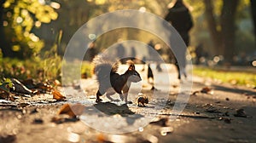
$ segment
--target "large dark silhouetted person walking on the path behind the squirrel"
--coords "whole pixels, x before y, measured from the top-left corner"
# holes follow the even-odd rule
[[[193,21],[189,9],[184,5],[183,0],[177,0],[174,3],[173,7],[169,9],[168,14],[166,14],[165,20],[172,24],[179,35],[183,38],[186,46],[189,46],[189,30],[193,26]],[[187,77],[184,70],[185,66],[181,69],[180,66],[177,65],[177,62],[175,66],[177,66],[178,79],[181,78],[181,72],[183,72],[184,77]]]

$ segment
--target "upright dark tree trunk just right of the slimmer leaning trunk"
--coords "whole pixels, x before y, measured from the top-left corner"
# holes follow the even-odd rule
[[[236,8],[239,0],[223,0],[223,8],[220,17],[220,25],[222,39],[224,43],[224,59],[232,62],[233,56],[236,54],[235,38],[236,38]]]

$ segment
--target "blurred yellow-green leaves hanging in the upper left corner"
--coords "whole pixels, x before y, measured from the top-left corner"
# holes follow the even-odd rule
[[[56,20],[58,14],[46,3],[38,0],[7,0],[3,4],[5,17],[5,35],[9,48],[18,58],[36,56],[44,47],[44,41],[33,33],[41,23]],[[4,46],[8,48],[8,45]]]

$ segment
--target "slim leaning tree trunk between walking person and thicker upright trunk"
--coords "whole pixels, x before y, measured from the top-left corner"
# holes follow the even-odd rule
[[[217,23],[214,19],[213,15],[213,6],[212,0],[204,0],[205,7],[206,7],[206,19],[207,19],[207,26],[210,31],[210,35],[212,37],[212,42],[214,49],[213,54],[224,54],[222,39],[220,37],[220,31],[217,30]]]

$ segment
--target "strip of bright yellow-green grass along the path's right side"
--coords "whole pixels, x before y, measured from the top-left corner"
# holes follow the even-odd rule
[[[210,77],[213,80],[221,81],[222,83],[231,83],[247,87],[256,87],[255,72],[240,72],[217,70],[207,67],[194,67],[193,74],[199,77]]]

